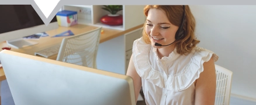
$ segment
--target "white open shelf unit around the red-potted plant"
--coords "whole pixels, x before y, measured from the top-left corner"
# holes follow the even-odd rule
[[[120,26],[109,26],[101,23],[101,17],[109,14],[109,12],[102,9],[102,5],[64,5],[63,9],[77,11],[78,24],[109,28],[113,30],[127,30],[134,26],[138,26],[139,24],[143,24],[145,21],[143,5],[123,5],[123,10],[118,13],[123,15],[123,25]]]

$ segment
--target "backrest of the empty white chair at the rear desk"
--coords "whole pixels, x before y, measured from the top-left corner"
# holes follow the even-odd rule
[[[64,38],[61,42],[57,60],[91,68],[97,68],[96,56],[98,52],[101,28]]]

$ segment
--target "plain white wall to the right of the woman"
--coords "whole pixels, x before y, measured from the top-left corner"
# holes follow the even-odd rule
[[[233,71],[231,94],[256,101],[256,6],[190,6],[203,48],[219,56],[216,64]]]

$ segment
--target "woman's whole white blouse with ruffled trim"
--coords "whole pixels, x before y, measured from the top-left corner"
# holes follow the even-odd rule
[[[168,57],[159,59],[157,49],[142,37],[134,41],[133,62],[141,77],[146,104],[195,104],[193,82],[203,72],[203,63],[212,56],[215,61],[219,58],[210,50],[196,47],[186,56],[174,49]]]

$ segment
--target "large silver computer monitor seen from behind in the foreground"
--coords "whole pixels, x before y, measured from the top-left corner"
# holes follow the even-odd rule
[[[2,50],[0,60],[16,105],[136,105],[127,75],[11,50]]]

